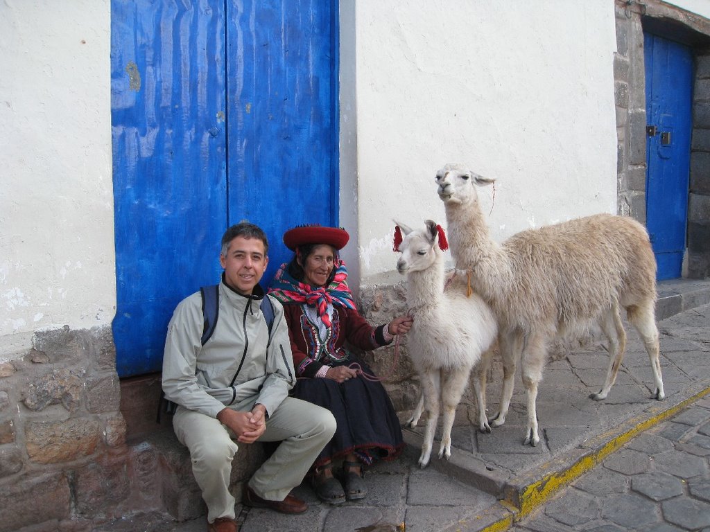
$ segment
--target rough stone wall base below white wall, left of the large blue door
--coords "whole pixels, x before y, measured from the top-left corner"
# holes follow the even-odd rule
[[[0,365],[0,532],[88,531],[120,515],[125,436],[111,328],[35,333]]]

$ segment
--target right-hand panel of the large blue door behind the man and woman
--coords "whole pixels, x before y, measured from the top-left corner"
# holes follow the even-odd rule
[[[265,279],[290,259],[286,229],[337,223],[334,4],[239,1],[229,13],[229,218],[258,223],[268,234]]]

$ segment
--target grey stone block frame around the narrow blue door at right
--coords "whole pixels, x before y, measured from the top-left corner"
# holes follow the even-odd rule
[[[649,0],[616,1],[614,99],[617,126],[618,214],[646,221],[646,111],[644,24],[666,38],[689,45],[695,54],[695,85],[687,260],[684,277],[710,276],[710,21]]]

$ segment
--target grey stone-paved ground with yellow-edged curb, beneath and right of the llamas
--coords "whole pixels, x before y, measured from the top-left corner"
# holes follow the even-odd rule
[[[422,429],[405,430],[407,453],[366,473],[370,492],[364,501],[329,506],[302,485],[295,494],[310,504],[307,513],[283,516],[238,505],[241,531],[492,532],[511,527],[520,531],[616,531],[628,526],[615,521],[613,515],[640,504],[649,512],[653,506],[654,515],[665,516],[662,506],[669,497],[683,500],[674,503],[677,509],[699,509],[703,514],[706,506],[690,494],[706,493],[708,482],[701,476],[707,474],[704,450],[710,448],[709,401],[704,399],[710,392],[708,286],[707,282],[677,282],[659,287],[659,318],[671,315],[659,322],[664,401],[651,399],[648,355],[635,331],[627,328],[626,355],[605,401],[588,397],[599,390],[606,371],[608,355],[601,346],[573,350],[547,365],[537,401],[541,431],[537,447],[522,443],[525,392],[518,375],[506,424],[493,433],[474,430],[470,420],[475,419],[475,405],[461,405],[452,433],[451,460],[434,456],[429,467],[420,470],[416,461]],[[500,385],[498,365],[488,384],[489,412],[496,410]],[[667,421],[672,416],[677,417]],[[694,424],[688,428],[691,421]],[[686,463],[682,453],[689,455],[698,482],[691,482],[686,470],[682,472],[686,477],[673,476]],[[643,463],[654,467],[644,469]],[[682,494],[670,496],[678,489],[672,478],[681,480]],[[615,494],[621,494],[623,486],[625,497],[617,502]],[[571,502],[564,499],[569,493],[574,497]],[[657,530],[683,529],[678,526]],[[173,523],[157,514],[94,528],[96,532],[205,529],[204,518]]]

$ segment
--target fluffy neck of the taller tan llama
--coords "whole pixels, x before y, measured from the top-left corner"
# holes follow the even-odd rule
[[[471,272],[473,289],[486,301],[505,299],[502,292],[513,282],[510,260],[491,239],[478,204],[446,204],[446,218],[457,269]]]

